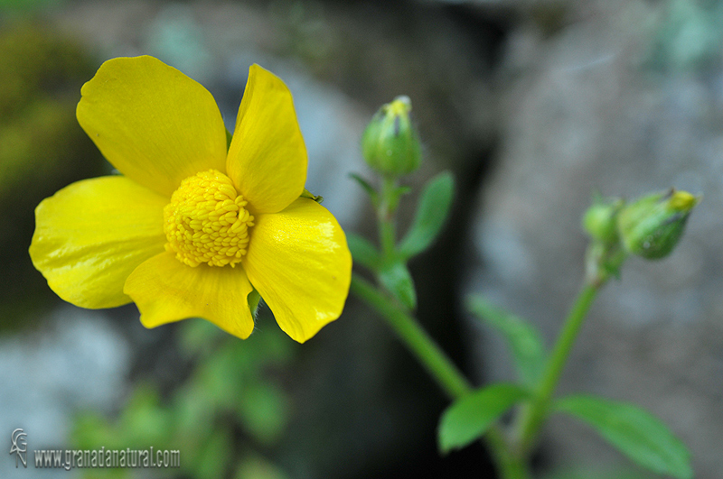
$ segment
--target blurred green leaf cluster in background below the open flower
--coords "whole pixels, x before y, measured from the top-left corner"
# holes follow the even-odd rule
[[[85,412],[75,421],[74,447],[180,451],[181,468],[159,476],[286,477],[263,455],[286,428],[290,401],[269,368],[291,359],[288,343],[272,330],[238,341],[207,321],[183,323],[180,349],[195,363],[187,380],[162,397],[151,383],[132,391],[116,419]],[[211,348],[209,345],[213,345]],[[134,477],[132,469],[84,470],[87,476]],[[142,471],[141,471],[142,472]]]

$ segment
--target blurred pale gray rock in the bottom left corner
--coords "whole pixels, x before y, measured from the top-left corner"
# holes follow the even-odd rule
[[[70,448],[76,413],[117,407],[129,363],[127,341],[104,313],[70,305],[54,311],[40,330],[0,338],[0,431],[9,442],[11,432],[23,428],[33,469],[16,469],[14,456],[4,455],[3,476],[57,474],[35,469],[33,451]]]

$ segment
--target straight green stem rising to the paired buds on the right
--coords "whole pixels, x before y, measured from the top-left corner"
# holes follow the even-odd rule
[[[603,281],[604,283],[605,281]],[[522,410],[520,420],[520,447],[521,455],[526,456],[534,441],[540,432],[540,427],[544,419],[547,417],[549,405],[552,401],[552,394],[559,382],[560,374],[568,361],[568,355],[572,346],[575,344],[577,333],[582,327],[590,309],[595,300],[597,291],[603,285],[600,282],[588,282],[585,287],[577,295],[577,299],[572,309],[568,313],[568,318],[560,332],[558,342],[549,356],[545,373],[542,375],[540,386],[535,394],[531,404]]]

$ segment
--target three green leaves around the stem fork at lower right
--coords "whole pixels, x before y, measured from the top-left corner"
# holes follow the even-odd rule
[[[493,306],[482,297],[470,297],[467,305],[476,318],[504,337],[518,382],[490,384],[447,408],[438,429],[439,448],[443,453],[482,438],[505,413],[531,401],[547,356],[540,333],[530,322]],[[660,419],[633,404],[573,394],[553,401],[549,412],[582,420],[624,456],[654,473],[679,479],[693,476],[690,453],[685,445]]]

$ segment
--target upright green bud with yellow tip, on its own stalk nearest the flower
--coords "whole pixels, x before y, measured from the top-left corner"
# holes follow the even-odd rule
[[[371,118],[362,136],[362,153],[372,169],[399,177],[419,167],[422,152],[409,121],[411,109],[409,97],[396,97]]]

